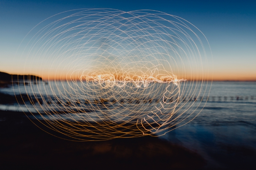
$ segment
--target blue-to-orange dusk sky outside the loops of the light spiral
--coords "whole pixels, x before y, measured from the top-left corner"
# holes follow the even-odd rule
[[[213,80],[256,80],[256,1],[0,1],[0,71],[20,74],[17,49],[27,33],[57,13],[82,8],[156,10],[186,19],[212,49]],[[211,56],[210,56],[211,57]],[[40,75],[39,75],[40,76]]]

